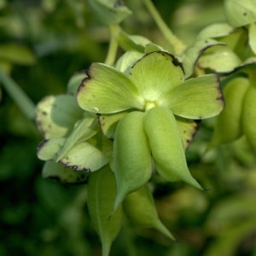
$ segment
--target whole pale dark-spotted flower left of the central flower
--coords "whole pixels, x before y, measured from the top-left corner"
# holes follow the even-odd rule
[[[75,96],[44,97],[36,108],[36,122],[44,135],[38,146],[38,158],[46,161],[43,177],[85,183],[87,172],[108,163],[106,154],[96,147],[96,117],[79,108]]]

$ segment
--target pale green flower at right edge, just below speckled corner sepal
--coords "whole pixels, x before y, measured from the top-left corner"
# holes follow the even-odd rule
[[[226,23],[204,28],[197,40],[214,38],[223,45],[207,49],[197,61],[197,66],[218,73],[234,73],[256,62],[256,25],[232,27]]]

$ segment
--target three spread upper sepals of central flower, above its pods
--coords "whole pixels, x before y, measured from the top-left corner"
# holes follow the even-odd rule
[[[218,76],[185,80],[182,63],[163,51],[144,55],[128,76],[102,63],[91,64],[77,100],[91,113],[146,111],[164,106],[188,119],[209,118],[223,108]]]

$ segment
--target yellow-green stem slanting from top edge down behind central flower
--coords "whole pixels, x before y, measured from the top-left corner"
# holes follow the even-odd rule
[[[185,44],[181,40],[179,40],[171,31],[171,29],[166,25],[166,22],[160,16],[158,10],[154,7],[154,4],[151,0],[143,0],[143,3],[147,7],[150,15],[153,16],[154,21],[156,22],[157,26],[160,28],[160,31],[168,40],[168,42],[172,45],[174,50],[174,54],[180,55],[186,49]]]

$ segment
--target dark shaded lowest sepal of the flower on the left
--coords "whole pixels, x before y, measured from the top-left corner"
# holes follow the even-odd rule
[[[61,166],[61,164],[51,160],[44,164],[42,175],[64,184],[87,183],[89,177],[89,173],[75,172],[73,169]]]

